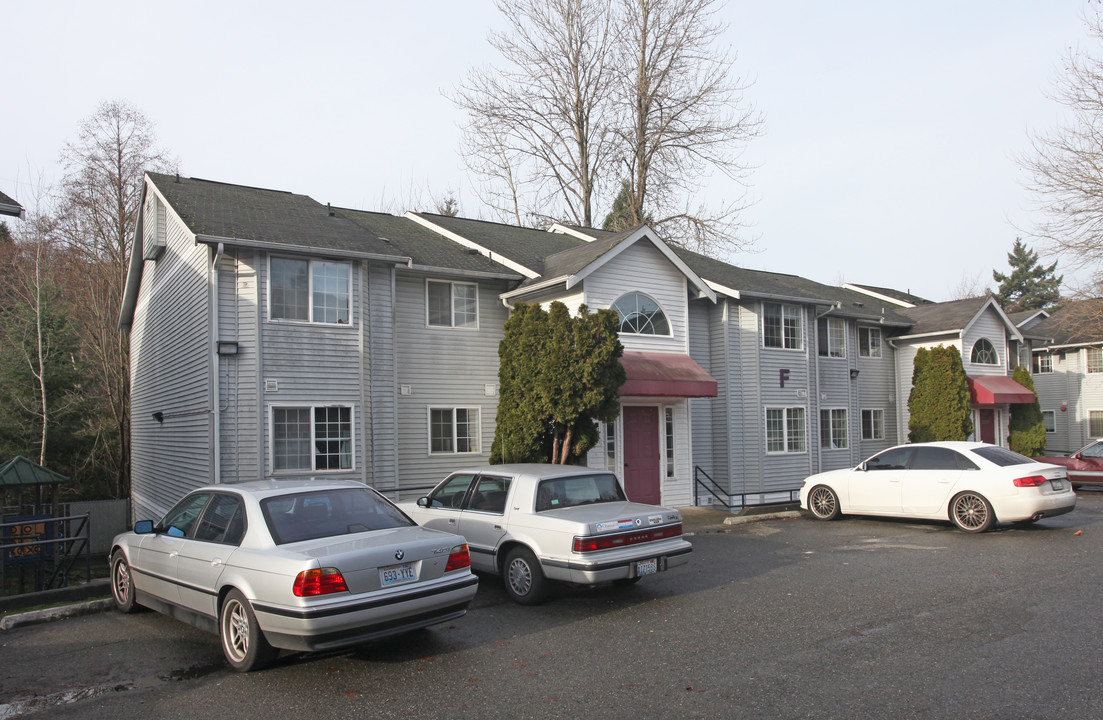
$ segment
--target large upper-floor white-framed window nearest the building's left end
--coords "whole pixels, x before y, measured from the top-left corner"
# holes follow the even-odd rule
[[[268,316],[347,325],[352,264],[272,257],[268,261]]]

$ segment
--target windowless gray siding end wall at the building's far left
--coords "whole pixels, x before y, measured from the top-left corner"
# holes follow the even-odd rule
[[[208,248],[174,215],[147,261],[130,333],[131,484],[137,519],[160,518],[213,477]],[[163,415],[163,422],[153,419]]]

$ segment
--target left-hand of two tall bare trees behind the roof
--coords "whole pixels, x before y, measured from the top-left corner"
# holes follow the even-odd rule
[[[467,111],[464,160],[488,181],[483,201],[514,222],[566,215],[593,224],[613,149],[612,14],[595,0],[499,0],[507,32],[491,45],[507,63],[474,69],[457,92]],[[517,186],[531,193],[522,207]]]

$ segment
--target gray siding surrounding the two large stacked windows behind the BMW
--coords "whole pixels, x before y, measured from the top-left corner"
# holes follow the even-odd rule
[[[286,257],[280,255],[280,257]],[[264,473],[272,476],[271,410],[276,407],[306,407],[322,405],[349,406],[353,409],[353,469],[347,471],[298,471],[280,475],[311,472],[326,477],[365,480],[364,405],[361,378],[364,376],[361,332],[363,308],[361,303],[362,278],[357,262],[352,262],[351,315],[347,325],[310,322],[286,322],[269,319],[268,271],[269,257],[259,257],[260,322],[260,390],[261,442],[264,444]],[[323,259],[309,256],[308,259]],[[269,390],[267,383],[275,380],[278,389]]]

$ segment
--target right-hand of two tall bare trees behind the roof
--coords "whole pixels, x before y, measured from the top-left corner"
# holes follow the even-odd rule
[[[717,208],[692,197],[718,170],[742,182],[747,142],[761,117],[745,104],[733,57],[715,50],[716,0],[622,0],[619,86],[629,110],[618,126],[629,175],[631,226],[652,225],[704,252],[738,249],[743,197]]]

